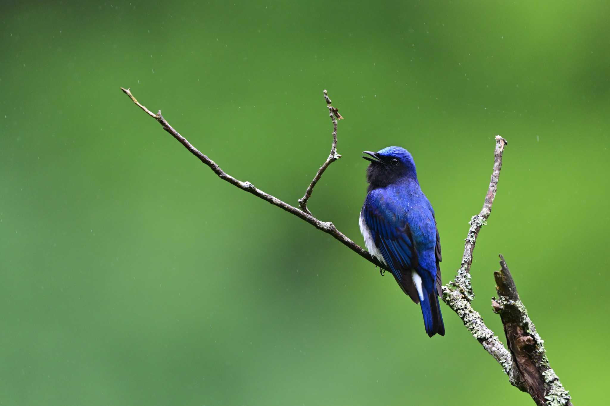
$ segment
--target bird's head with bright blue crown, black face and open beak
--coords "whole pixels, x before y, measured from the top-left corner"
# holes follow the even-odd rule
[[[413,157],[404,148],[391,146],[377,152],[364,151],[370,157],[363,156],[370,161],[367,168],[368,188],[386,187],[403,179],[412,179],[417,182],[417,171]]]

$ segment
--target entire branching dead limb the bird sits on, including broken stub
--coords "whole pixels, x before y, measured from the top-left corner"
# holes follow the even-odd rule
[[[373,263],[379,268],[382,268],[376,258],[373,258],[367,251],[358,246],[350,238],[346,237],[342,232],[337,230],[331,222],[320,221],[312,216],[307,209],[307,201],[310,198],[315,184],[320,180],[320,177],[328,168],[328,166],[340,158],[337,154],[337,120],[342,119],[339,110],[332,107],[331,99],[328,98],[326,90],[324,98],[328,106],[329,116],[333,123],[332,146],[331,153],[326,159],[326,162],[318,169],[314,179],[310,183],[303,198],[299,199],[300,208],[293,207],[280,199],[265,193],[259,188],[254,187],[251,182],[242,182],[227,174],[213,162],[207,155],[201,153],[188,140],[178,133],[161,115],[161,110],[157,114],[146,109],[145,106],[135,99],[129,88],[122,88],[123,93],[142,109],[146,114],[156,119],[165,131],[176,138],[188,151],[195,155],[201,162],[209,166],[213,173],[217,174],[220,179],[231,183],[243,191],[254,194],[260,199],[273,204],[292,215],[303,219],[312,226],[316,227],[325,233],[332,235],[336,240],[350,248],[356,254],[368,262]],[[570,395],[559,382],[558,376],[548,364],[548,359],[544,350],[543,341],[536,333],[536,327],[531,322],[527,315],[527,310],[519,299],[517,288],[514,285],[512,276],[504,262],[501,261],[501,271],[496,272],[496,282],[498,283],[498,299],[492,301],[495,312],[500,313],[504,324],[504,331],[509,343],[509,350],[504,347],[500,339],[490,330],[484,323],[481,315],[476,312],[470,302],[474,294],[472,285],[470,284],[470,267],[472,266],[472,254],[475,249],[476,238],[479,235],[481,227],[486,224],[487,218],[492,210],[493,199],[498,188],[498,179],[500,177],[500,169],[502,168],[502,155],[506,140],[497,135],[495,137],[496,145],[494,151],[494,162],[492,177],[489,182],[489,188],[485,196],[485,201],[481,212],[473,216],[470,220],[470,229],[464,244],[464,255],[462,263],[458,269],[458,274],[454,280],[442,287],[443,301],[462,319],[464,326],[468,332],[472,334],[476,340],[481,343],[484,349],[489,352],[492,357],[500,363],[504,373],[508,374],[512,385],[517,386],[520,390],[528,392],[538,405],[544,406],[572,406]]]

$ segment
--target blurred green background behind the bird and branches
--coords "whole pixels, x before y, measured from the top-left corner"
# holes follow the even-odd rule
[[[535,3],[535,4],[534,4]],[[446,337],[390,276],[219,180],[362,243],[361,151],[415,157],[443,279],[509,146],[473,263],[505,255],[575,404],[600,404],[607,336],[610,26],[588,2],[3,2],[1,405],[533,404],[444,304]]]

